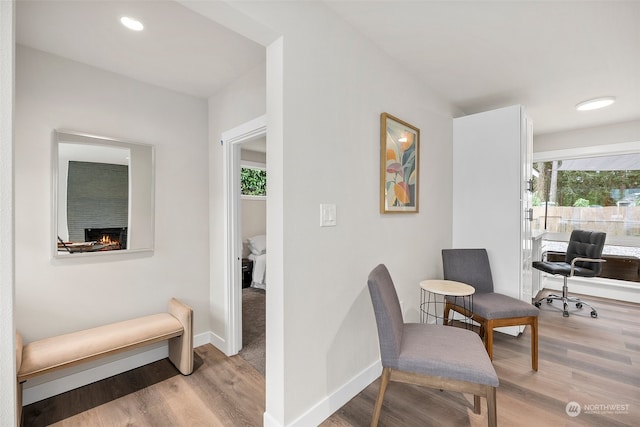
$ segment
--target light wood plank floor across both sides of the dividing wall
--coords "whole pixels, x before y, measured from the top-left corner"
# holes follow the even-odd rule
[[[538,372],[531,370],[528,330],[518,338],[496,334],[499,425],[640,425],[640,305],[585,299],[598,309],[597,319],[588,309],[564,318],[543,303]],[[369,425],[378,382],[322,426]],[[162,360],[29,405],[23,425],[261,426],[264,398],[264,378],[254,368],[205,345],[196,349],[191,376]],[[486,426],[484,401],[481,415],[473,414],[472,401],[392,383],[380,426]],[[570,402],[580,405],[576,417],[567,415]]]

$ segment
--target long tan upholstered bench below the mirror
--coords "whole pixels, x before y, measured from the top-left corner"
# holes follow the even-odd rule
[[[16,339],[18,414],[22,383],[60,369],[164,340],[169,360],[183,375],[193,372],[193,310],[172,298],[168,313],[152,314],[28,344]]]

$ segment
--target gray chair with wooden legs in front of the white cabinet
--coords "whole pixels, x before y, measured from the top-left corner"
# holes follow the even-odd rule
[[[531,327],[531,369],[538,370],[538,314],[531,303],[493,291],[493,277],[486,249],[443,249],[444,278],[466,283],[475,288],[471,310],[446,299],[444,316],[456,311],[480,324],[489,357],[493,359],[493,328],[502,326]]]

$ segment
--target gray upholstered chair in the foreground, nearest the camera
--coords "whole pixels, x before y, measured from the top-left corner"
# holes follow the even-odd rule
[[[382,377],[371,426],[378,425],[389,381],[474,395],[487,400],[489,426],[496,426],[498,376],[478,335],[451,326],[404,323],[396,289],[380,264],[369,274],[369,293],[378,325]]]

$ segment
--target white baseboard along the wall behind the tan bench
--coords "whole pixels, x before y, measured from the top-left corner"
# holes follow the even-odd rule
[[[215,345],[210,339],[211,336],[215,335],[211,332],[205,332],[194,336],[194,347],[209,343]],[[77,365],[64,371],[43,375],[24,383],[22,404],[29,405],[48,399],[60,393],[148,365],[166,357],[169,357],[169,344],[164,342],[151,345],[149,349],[142,352],[139,349],[131,350],[101,360]]]

